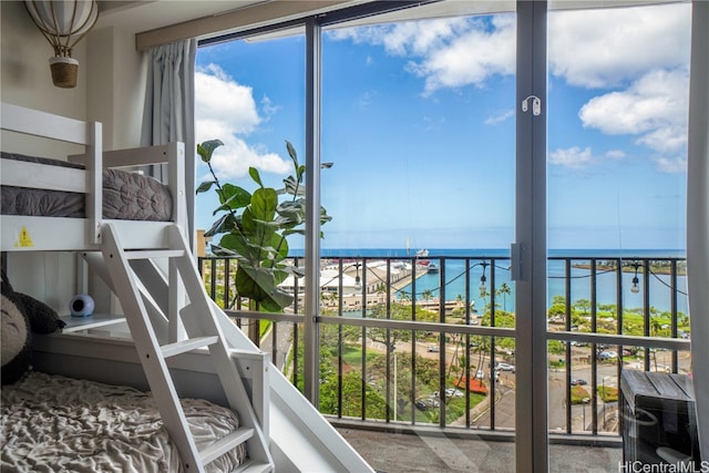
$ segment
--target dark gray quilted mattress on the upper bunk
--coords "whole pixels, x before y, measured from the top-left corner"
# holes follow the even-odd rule
[[[82,168],[64,161],[2,152],[3,160]],[[138,173],[103,171],[103,218],[158,220],[172,218],[173,199],[167,186]],[[2,215],[84,218],[85,195],[60,191],[2,186]]]

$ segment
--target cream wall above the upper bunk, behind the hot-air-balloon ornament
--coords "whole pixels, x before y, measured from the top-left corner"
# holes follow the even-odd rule
[[[1,1],[0,99],[17,105],[58,113],[78,120],[103,123],[104,148],[140,144],[145,84],[142,54],[135,50],[135,35],[115,27],[94,30],[73,51],[79,60],[79,80],[74,89],[52,84],[49,58],[53,51],[27,13],[23,2]],[[53,143],[16,144],[19,140],[3,133],[2,147],[18,152],[61,157]],[[29,147],[28,147],[29,146]],[[13,150],[14,151],[14,150]]]

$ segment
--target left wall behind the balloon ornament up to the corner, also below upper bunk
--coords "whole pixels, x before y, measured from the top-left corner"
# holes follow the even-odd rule
[[[52,84],[49,58],[52,47],[40,33],[20,1],[0,2],[0,99],[17,105],[86,120],[86,44],[80,42],[73,56],[79,60],[75,89]],[[2,132],[3,151],[64,158],[79,153],[78,146]],[[8,277],[16,290],[44,300],[68,312],[75,294],[74,256],[68,253],[11,253]]]

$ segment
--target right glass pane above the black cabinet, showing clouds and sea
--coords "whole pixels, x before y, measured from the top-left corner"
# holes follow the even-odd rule
[[[623,338],[690,337],[690,12],[671,3],[548,13],[549,432],[618,440],[630,421],[624,371],[691,373],[688,350]],[[569,467],[574,449],[552,449],[553,470]]]

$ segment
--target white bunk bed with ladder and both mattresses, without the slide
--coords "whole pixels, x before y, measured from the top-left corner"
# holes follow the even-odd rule
[[[2,469],[273,470],[266,353],[228,350],[219,329],[204,326],[205,312],[214,311],[195,279],[183,230],[182,143],[103,152],[100,123],[8,103],[1,114],[2,130],[85,148],[60,163],[2,154],[1,250],[75,251],[79,286],[91,270],[123,308],[119,315],[66,316],[62,333],[34,338],[34,371],[2,388]],[[167,164],[166,185],[116,169],[155,164]],[[129,263],[134,258],[140,260]],[[206,336],[189,338],[204,330]],[[51,419],[49,430],[38,430],[37,419]],[[106,422],[117,436],[97,440],[89,424],[111,431]]]

